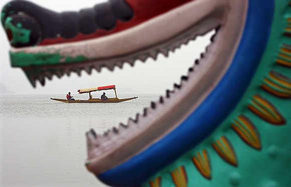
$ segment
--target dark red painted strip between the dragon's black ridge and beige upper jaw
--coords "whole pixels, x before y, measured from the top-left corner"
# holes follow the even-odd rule
[[[44,39],[40,43],[40,45],[79,41],[109,35],[115,32],[119,32],[121,30],[125,30],[144,21],[147,21],[157,15],[165,13],[177,6],[180,6],[192,0],[126,0],[126,1],[133,9],[134,12],[133,18],[126,22],[117,20],[116,26],[112,30],[97,29],[96,32],[92,34],[78,33],[76,37],[70,39],[65,39],[62,37]]]

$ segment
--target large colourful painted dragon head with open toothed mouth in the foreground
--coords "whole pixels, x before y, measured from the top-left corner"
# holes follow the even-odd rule
[[[215,29],[180,84],[127,124],[86,133],[86,167],[112,186],[290,185],[291,1],[109,0],[58,13],[13,0],[1,20],[33,86],[168,56]]]

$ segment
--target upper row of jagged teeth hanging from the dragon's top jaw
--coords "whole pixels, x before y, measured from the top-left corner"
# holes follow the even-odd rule
[[[216,28],[216,31],[219,29]],[[198,35],[203,35],[198,34]],[[211,41],[213,41],[215,34],[211,37]],[[112,60],[104,60],[102,62],[80,62],[76,64],[62,64],[62,65],[52,65],[46,67],[24,67],[23,70],[25,71],[28,79],[30,80],[31,84],[36,87],[36,82],[39,81],[41,85],[45,85],[46,79],[52,80],[53,76],[57,76],[61,78],[65,74],[70,76],[71,72],[77,73],[78,76],[81,76],[82,70],[87,72],[88,74],[92,73],[92,70],[95,69],[97,72],[100,72],[103,67],[107,67],[110,71],[114,70],[114,67],[119,67],[120,69],[123,68],[125,63],[128,63],[130,66],[134,66],[134,63],[137,60],[145,62],[148,58],[152,58],[154,60],[157,59],[158,54],[161,53],[165,57],[169,56],[169,52],[174,52],[177,48],[180,48],[183,44],[187,45],[190,40],[194,40],[197,35],[193,35],[192,37],[189,36],[188,39],[180,40],[176,43],[171,43],[170,46],[159,46],[155,49],[149,49],[148,51],[143,51],[142,53],[137,52],[134,55],[126,56],[123,58],[117,58]],[[207,51],[207,48],[206,48]],[[201,58],[203,58],[203,53],[201,54]],[[196,61],[198,63],[198,61]]]

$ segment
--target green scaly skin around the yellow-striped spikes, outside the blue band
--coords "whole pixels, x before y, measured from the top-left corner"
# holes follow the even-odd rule
[[[275,1],[275,14],[267,47],[250,85],[233,112],[208,138],[159,171],[149,181],[161,176],[161,186],[175,186],[170,172],[184,165],[188,186],[290,186],[291,99],[273,96],[260,88],[270,70],[288,77],[291,75],[290,68],[275,63],[282,44],[291,44],[290,38],[283,35],[284,28],[287,26],[286,18],[291,17],[288,3],[288,0]],[[285,118],[286,123],[273,125],[251,112],[247,106],[255,94],[261,95],[272,103]],[[247,145],[231,128],[233,121],[241,114],[248,117],[256,126],[260,134],[261,150]],[[233,146],[238,162],[237,167],[224,161],[211,146],[222,135],[226,136]],[[210,180],[204,178],[192,162],[192,157],[203,149],[208,151],[210,159],[212,176]],[[149,181],[143,186],[149,186]]]

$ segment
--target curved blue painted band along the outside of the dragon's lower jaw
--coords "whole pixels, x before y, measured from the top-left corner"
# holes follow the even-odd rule
[[[97,177],[112,186],[139,185],[207,137],[235,107],[250,83],[268,41],[273,11],[274,0],[249,0],[237,53],[207,99],[159,142]]]

